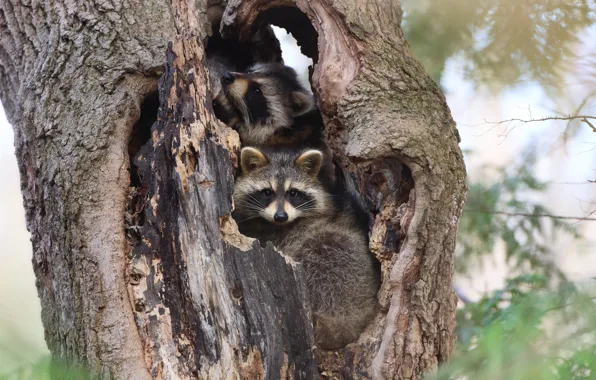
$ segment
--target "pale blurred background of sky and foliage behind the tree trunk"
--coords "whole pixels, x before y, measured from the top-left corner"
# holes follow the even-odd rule
[[[458,347],[437,376],[596,378],[595,1],[402,5],[411,49],[458,124],[470,188]],[[276,35],[306,81],[311,61]],[[1,111],[0,375],[47,355],[12,139]]]

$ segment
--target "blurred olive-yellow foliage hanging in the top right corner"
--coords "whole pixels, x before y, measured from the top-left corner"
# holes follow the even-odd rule
[[[477,84],[559,82],[579,32],[596,20],[594,0],[403,0],[404,32],[416,57],[440,82],[445,62],[464,58]]]

